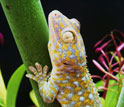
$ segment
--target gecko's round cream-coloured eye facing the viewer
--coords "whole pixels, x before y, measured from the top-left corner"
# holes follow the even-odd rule
[[[65,43],[71,43],[74,40],[74,34],[70,31],[64,32],[62,34],[62,40]]]

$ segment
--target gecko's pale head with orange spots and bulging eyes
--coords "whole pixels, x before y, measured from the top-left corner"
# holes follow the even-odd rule
[[[58,66],[80,65],[85,60],[85,49],[80,35],[80,23],[54,10],[49,14],[49,53]]]

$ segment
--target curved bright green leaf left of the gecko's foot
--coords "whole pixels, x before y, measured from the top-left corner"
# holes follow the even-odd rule
[[[15,107],[18,89],[25,73],[25,66],[21,65],[11,76],[7,86],[6,107]]]

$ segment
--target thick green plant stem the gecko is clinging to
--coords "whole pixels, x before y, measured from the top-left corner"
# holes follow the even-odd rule
[[[51,68],[47,50],[48,26],[40,0],[0,0],[27,72],[29,65],[39,62]],[[59,107],[45,104],[37,84],[31,80],[40,107]]]

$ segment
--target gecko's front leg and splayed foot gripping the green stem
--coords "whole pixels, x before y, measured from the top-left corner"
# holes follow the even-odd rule
[[[29,66],[29,70],[33,74],[26,74],[26,77],[36,81],[39,86],[40,95],[43,97],[44,102],[52,103],[56,98],[58,87],[55,85],[53,77],[47,75],[48,66],[43,68],[39,63],[35,63],[35,67]]]

